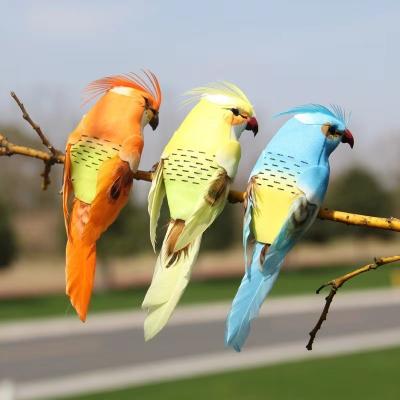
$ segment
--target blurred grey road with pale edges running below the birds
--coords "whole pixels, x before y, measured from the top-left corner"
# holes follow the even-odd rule
[[[290,359],[400,345],[400,291],[339,293],[315,350],[308,332],[322,296],[271,299],[240,354],[224,349],[229,304],[182,307],[153,341],[143,314],[0,324],[0,380],[17,399],[45,399]]]

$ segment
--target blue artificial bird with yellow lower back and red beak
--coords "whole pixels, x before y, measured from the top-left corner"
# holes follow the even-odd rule
[[[243,226],[246,272],[227,318],[225,344],[240,351],[251,320],[274,285],[287,253],[314,222],[329,182],[329,156],[354,145],[345,112],[310,104],[292,117],[261,153],[247,187]],[[250,238],[255,244],[248,266]]]

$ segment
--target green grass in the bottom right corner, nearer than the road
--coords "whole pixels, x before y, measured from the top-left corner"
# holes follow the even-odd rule
[[[73,399],[398,400],[399,360],[400,348],[396,348],[292,362]]]

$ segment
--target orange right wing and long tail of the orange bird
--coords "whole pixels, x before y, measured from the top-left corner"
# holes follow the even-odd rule
[[[110,160],[100,171],[92,204],[75,198],[69,220],[66,218],[66,293],[82,321],[86,320],[93,290],[96,241],[125,206],[131,187],[128,163]]]

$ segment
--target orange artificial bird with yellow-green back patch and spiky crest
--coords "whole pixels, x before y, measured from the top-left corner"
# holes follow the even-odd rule
[[[70,134],[66,146],[63,211],[67,231],[66,293],[86,320],[96,267],[96,241],[128,201],[143,150],[143,129],[158,125],[156,76],[106,77],[88,85],[102,95]]]

